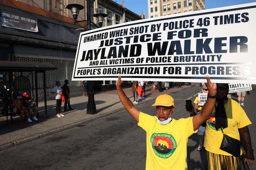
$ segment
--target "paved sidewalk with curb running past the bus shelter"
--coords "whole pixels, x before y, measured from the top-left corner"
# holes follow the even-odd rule
[[[195,84],[192,83],[192,85]],[[152,86],[146,87],[146,98],[139,100],[139,104],[154,100],[159,94],[171,94],[188,87],[190,86],[183,86],[181,89],[174,87],[161,93],[158,90],[152,90]],[[131,88],[124,91],[133,101]],[[116,90],[97,93],[94,95],[94,100],[97,109],[97,114],[94,115],[86,114],[88,97],[77,96],[70,98],[71,107],[74,110],[65,112],[64,117],[56,117],[56,100],[47,101],[48,119],[44,119],[44,102],[38,103],[39,120],[37,122],[19,125],[19,117],[16,116],[13,124],[10,121],[6,124],[6,117],[0,117],[0,151],[124,110]]]

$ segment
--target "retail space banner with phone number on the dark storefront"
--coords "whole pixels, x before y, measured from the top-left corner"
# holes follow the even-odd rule
[[[38,32],[37,19],[8,11],[1,11],[2,26],[31,32]]]

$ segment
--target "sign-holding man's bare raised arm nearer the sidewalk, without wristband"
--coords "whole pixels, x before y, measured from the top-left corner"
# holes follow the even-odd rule
[[[139,123],[140,111],[133,106],[133,103],[131,102],[131,100],[126,96],[126,94],[122,89],[122,84],[123,84],[123,81],[121,80],[121,76],[118,76],[118,80],[115,83],[118,96],[123,106],[125,106],[125,109],[133,116],[135,121]]]

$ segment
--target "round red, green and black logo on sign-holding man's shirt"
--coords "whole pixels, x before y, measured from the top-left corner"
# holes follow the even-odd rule
[[[150,142],[154,153],[160,158],[169,158],[177,147],[176,140],[167,133],[153,133]]]

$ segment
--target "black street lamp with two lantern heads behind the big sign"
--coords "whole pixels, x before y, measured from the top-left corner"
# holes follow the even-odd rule
[[[90,29],[90,1],[86,1],[87,4],[87,28]],[[66,6],[67,9],[70,9],[73,15],[74,23],[79,23],[83,21],[77,21],[77,16],[79,14],[79,10],[83,9],[84,7],[79,4],[69,4]],[[98,24],[100,27],[102,27],[103,18],[107,17],[108,15],[105,13],[97,13],[93,15],[94,17],[97,17]],[[88,81],[88,104],[87,104],[87,114],[96,114],[96,105],[94,101],[94,91],[93,91],[93,81]]]

